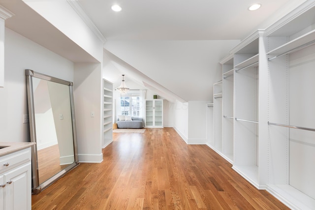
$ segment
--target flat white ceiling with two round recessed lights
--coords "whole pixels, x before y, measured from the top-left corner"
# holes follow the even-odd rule
[[[107,40],[244,39],[301,0],[78,0]],[[261,3],[249,11],[253,3]],[[122,11],[114,12],[117,3]],[[276,12],[277,11],[277,12]]]

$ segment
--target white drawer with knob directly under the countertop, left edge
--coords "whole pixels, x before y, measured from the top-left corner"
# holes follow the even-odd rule
[[[31,161],[31,158],[31,148],[4,155],[0,157],[0,172],[4,169],[11,168],[10,166],[20,165]]]

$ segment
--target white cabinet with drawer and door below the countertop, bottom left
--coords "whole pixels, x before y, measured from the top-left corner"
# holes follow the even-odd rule
[[[0,157],[0,209],[31,210],[31,148]]]

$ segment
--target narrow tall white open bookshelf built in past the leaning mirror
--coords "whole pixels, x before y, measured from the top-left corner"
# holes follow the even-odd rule
[[[103,146],[113,139],[113,84],[103,79]]]

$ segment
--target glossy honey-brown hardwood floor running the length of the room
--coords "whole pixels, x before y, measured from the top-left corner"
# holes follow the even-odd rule
[[[81,163],[38,195],[33,210],[287,210],[206,145],[173,128],[114,133],[102,163]]]

